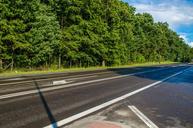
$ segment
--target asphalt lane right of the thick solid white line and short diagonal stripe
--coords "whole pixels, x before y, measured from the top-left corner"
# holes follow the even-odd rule
[[[193,68],[129,99],[159,128],[193,128]]]

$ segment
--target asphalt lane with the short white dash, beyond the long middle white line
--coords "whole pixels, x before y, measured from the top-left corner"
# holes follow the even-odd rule
[[[127,75],[127,74],[138,73],[138,72],[165,70],[168,68],[169,66],[124,68],[124,69],[112,69],[112,71],[109,71],[109,72],[101,72],[101,73],[88,74],[88,75],[85,74],[85,76],[81,76],[81,77],[77,77],[77,76],[62,77],[61,76],[61,77],[51,78],[49,80],[34,79],[28,82],[23,81],[23,83],[22,81],[20,81],[19,83],[16,82],[15,84],[11,81],[10,83],[0,84],[0,95],[21,92],[21,91],[28,91],[28,90],[36,90],[36,87],[34,84],[35,82],[37,82],[40,88],[47,88],[47,87],[53,87],[53,86],[60,86],[60,85],[53,85],[55,81],[66,81],[66,84],[74,84],[78,82],[104,79],[104,78],[116,77],[120,75]],[[63,86],[63,84],[61,86]],[[68,87],[68,85],[64,87]]]

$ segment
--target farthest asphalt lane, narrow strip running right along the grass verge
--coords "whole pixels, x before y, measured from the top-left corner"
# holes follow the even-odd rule
[[[109,74],[109,73],[134,73],[140,70],[151,70],[161,67],[170,67],[170,66],[180,66],[181,64],[170,64],[170,65],[157,65],[157,66],[146,66],[146,67],[129,67],[129,68],[109,68],[105,70],[94,70],[94,71],[82,71],[82,72],[61,72],[61,73],[48,73],[48,74],[40,74],[40,75],[21,75],[17,77],[5,77],[0,78],[0,85],[12,85],[12,84],[20,84],[20,83],[29,83],[32,80],[36,81],[44,81],[50,79],[58,79],[58,78],[79,78],[85,76],[92,75],[101,75],[101,74]]]

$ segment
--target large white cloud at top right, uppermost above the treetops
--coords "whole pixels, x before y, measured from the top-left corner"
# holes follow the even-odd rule
[[[137,12],[148,12],[153,15],[155,21],[168,22],[172,28],[178,25],[193,24],[193,8],[186,4],[167,3],[135,3]]]

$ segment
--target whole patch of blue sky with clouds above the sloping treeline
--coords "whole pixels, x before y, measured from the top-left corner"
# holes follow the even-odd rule
[[[193,47],[193,0],[123,0],[138,13],[148,12],[155,21],[168,22]]]

